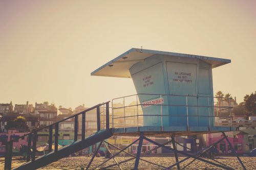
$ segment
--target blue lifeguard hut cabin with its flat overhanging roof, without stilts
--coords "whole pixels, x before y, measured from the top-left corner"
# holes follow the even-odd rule
[[[212,68],[227,63],[230,60],[132,48],[91,75],[132,78],[143,111],[143,127],[229,131],[229,127],[214,126],[212,90]]]

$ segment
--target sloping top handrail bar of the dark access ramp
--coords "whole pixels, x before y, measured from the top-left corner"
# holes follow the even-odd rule
[[[70,118],[72,118],[72,117],[75,117],[76,115],[80,115],[80,114],[82,114],[82,113],[86,113],[86,112],[88,112],[88,111],[90,111],[90,110],[93,110],[93,109],[95,109],[95,108],[97,108],[97,107],[99,107],[99,106],[102,106],[102,105],[104,105],[104,104],[106,104],[106,103],[109,103],[109,102],[110,102],[110,101],[105,102],[105,103],[101,103],[101,104],[98,104],[98,105],[95,105],[95,106],[93,106],[93,107],[91,107],[91,108],[89,108],[89,109],[83,110],[83,111],[81,111],[81,112],[79,112],[79,113],[77,113],[77,114],[73,114],[72,116],[69,116],[69,117],[67,117],[67,118],[65,118],[65,119],[59,120],[58,122],[55,122],[55,123],[53,123],[53,124],[51,124],[51,125],[42,127],[42,128],[40,128],[40,129],[36,129],[36,130],[34,130],[34,131],[30,132],[30,133],[27,133],[27,134],[25,134],[25,135],[19,136],[19,137],[17,137],[17,138],[15,137],[15,139],[9,140],[9,141],[7,141],[7,143],[8,143],[8,142],[13,142],[14,140],[17,140],[17,139],[19,139],[19,138],[22,138],[22,137],[28,136],[28,135],[30,135],[30,134],[33,134],[33,133],[35,133],[35,132],[38,132],[38,131],[40,131],[40,130],[46,129],[46,128],[50,127],[50,126],[54,126],[54,125],[56,125],[56,124],[58,124],[58,123],[60,123],[60,122],[63,122],[63,121],[65,121],[65,120],[67,120],[67,119],[70,119]]]

